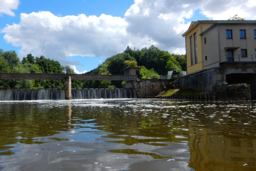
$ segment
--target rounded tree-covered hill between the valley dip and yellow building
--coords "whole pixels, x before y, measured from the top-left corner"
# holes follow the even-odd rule
[[[123,53],[107,58],[97,68],[85,74],[124,74],[128,66],[140,66],[140,77],[145,75],[167,75],[169,70],[186,70],[186,55],[170,54],[155,46],[135,50],[127,46]],[[120,81],[83,81],[85,88],[121,88]]]

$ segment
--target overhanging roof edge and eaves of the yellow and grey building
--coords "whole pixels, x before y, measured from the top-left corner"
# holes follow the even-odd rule
[[[254,23],[256,23],[256,20],[198,20],[198,21],[192,21],[190,26],[189,26],[189,29],[185,33],[183,33],[182,36],[185,36],[193,27],[195,27],[195,26],[197,26],[198,24],[201,24],[201,23],[213,23],[213,25],[209,27],[209,28],[211,28],[211,27],[214,27],[216,23],[221,23],[221,24],[241,24],[241,23],[243,23],[243,24],[254,24]],[[209,28],[207,28],[206,30],[208,30]]]

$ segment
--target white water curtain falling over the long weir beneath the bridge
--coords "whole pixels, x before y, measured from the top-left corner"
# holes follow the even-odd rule
[[[136,99],[135,89],[71,89],[71,99]],[[64,89],[2,89],[0,101],[65,100]]]

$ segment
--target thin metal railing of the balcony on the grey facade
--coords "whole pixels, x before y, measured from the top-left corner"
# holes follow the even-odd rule
[[[241,54],[223,55],[220,57],[220,62],[256,62],[255,54],[248,54],[246,56]]]

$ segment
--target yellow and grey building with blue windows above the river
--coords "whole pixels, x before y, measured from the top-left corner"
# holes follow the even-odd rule
[[[256,73],[251,70],[256,64],[256,21],[198,20],[182,36],[187,74],[222,67],[222,81],[226,81],[227,74],[242,73],[231,68],[244,69],[244,64],[248,65],[244,73]]]

